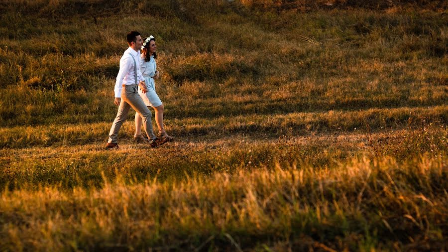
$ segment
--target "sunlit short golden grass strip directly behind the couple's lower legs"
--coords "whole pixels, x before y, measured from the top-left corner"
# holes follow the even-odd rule
[[[171,119],[169,112],[165,115],[166,129],[179,139],[196,136],[225,137],[236,133],[281,137],[306,135],[312,132],[367,132],[368,130],[421,128],[430,124],[441,125],[443,128],[448,124],[447,106],[223,116],[212,120]],[[120,131],[119,138],[132,138],[134,133],[132,120],[133,115],[130,115],[128,122]],[[0,148],[78,145],[105,141],[111,125],[112,120],[111,123],[2,127],[0,128]]]

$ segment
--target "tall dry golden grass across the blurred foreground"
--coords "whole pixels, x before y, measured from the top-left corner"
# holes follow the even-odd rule
[[[278,165],[177,183],[118,178],[91,190],[6,191],[1,245],[35,251],[443,250],[447,168],[440,158],[362,159],[334,169]]]

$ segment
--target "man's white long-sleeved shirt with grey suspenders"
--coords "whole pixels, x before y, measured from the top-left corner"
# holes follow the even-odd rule
[[[134,66],[134,61],[132,60],[131,55],[129,55],[129,53],[135,59],[136,66]],[[127,48],[126,51],[124,51],[123,56],[121,56],[120,59],[120,70],[118,71],[118,75],[116,76],[115,89],[114,89],[116,98],[121,98],[122,84],[124,85],[135,84],[134,79],[135,67],[137,68],[137,83],[139,83],[140,81],[144,80],[140,72],[140,50],[136,52],[134,49],[129,47]]]

